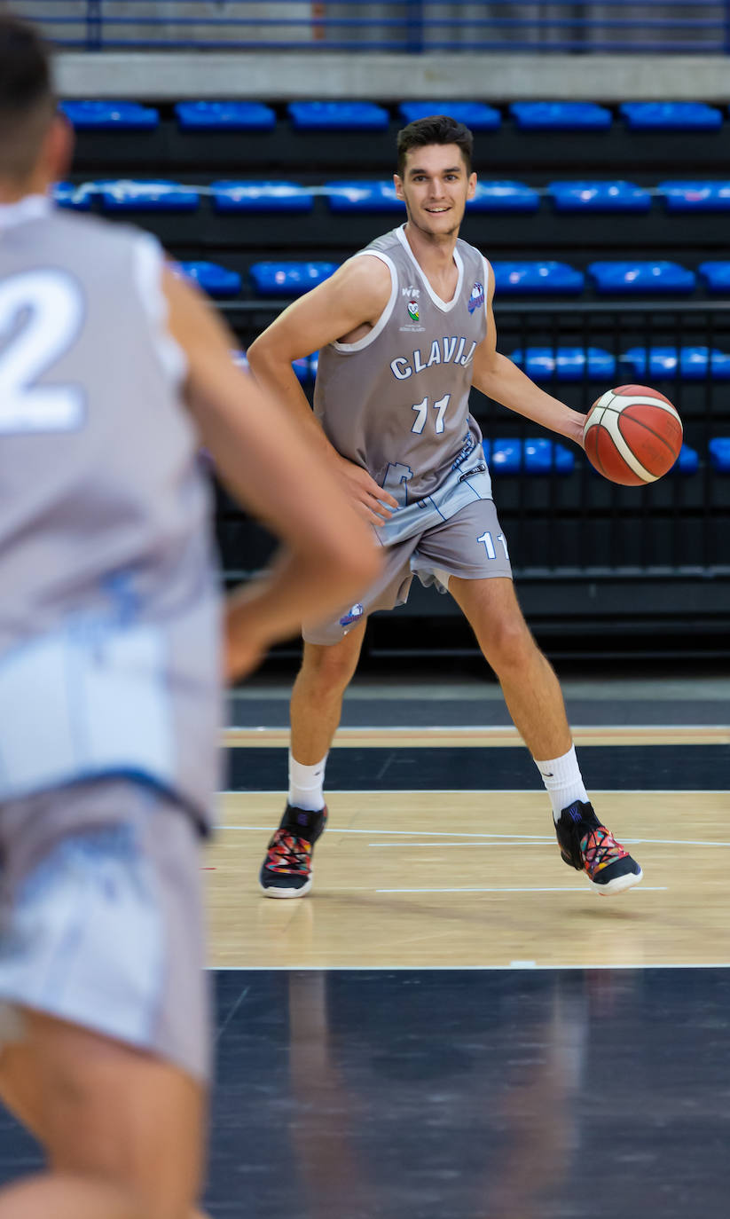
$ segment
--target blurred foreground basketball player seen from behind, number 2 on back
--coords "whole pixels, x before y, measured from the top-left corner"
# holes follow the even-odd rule
[[[0,1219],[191,1219],[222,668],[199,444],[290,547],[230,607],[232,675],[379,560],[157,243],[51,210],[55,108],[0,18],[0,1092],[49,1158]]]

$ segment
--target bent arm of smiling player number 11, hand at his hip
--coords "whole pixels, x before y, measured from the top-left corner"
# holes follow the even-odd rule
[[[314,418],[296,373],[294,360],[310,356],[338,339],[353,341],[375,324],[390,300],[390,271],[380,258],[350,258],[329,279],[301,296],[260,334],[246,352],[256,380],[283,402],[306,434],[334,466],[351,501],[372,524],[383,524],[397,508],[388,491],[368,472],[340,456]],[[360,332],[362,330],[362,334]]]

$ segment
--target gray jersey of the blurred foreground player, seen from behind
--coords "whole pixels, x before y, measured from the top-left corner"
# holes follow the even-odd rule
[[[139,777],[205,820],[219,601],[146,234],[0,208],[0,801]]]

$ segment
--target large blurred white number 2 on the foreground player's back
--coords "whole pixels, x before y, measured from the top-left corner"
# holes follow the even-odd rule
[[[71,432],[84,419],[78,385],[39,385],[83,322],[79,285],[61,271],[27,271],[0,282],[0,434]]]

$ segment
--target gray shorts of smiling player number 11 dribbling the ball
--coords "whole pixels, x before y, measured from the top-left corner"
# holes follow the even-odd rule
[[[363,618],[377,610],[392,610],[408,600],[414,575],[423,585],[448,590],[448,579],[512,579],[507,541],[494,500],[474,500],[447,521],[423,533],[385,546],[385,568],[357,605],[346,607],[329,622],[306,627],[310,644],[338,644]]]

